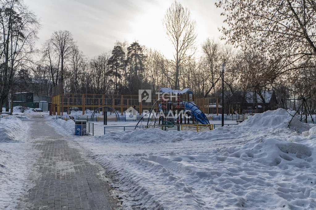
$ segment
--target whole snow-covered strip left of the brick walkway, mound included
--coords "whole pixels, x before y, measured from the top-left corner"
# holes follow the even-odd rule
[[[26,189],[30,146],[24,116],[4,117],[0,121],[0,209],[15,209]]]

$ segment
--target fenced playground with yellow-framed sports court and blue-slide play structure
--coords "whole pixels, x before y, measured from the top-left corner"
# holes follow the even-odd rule
[[[145,94],[148,95],[148,93]],[[157,128],[164,131],[194,130],[200,132],[213,130],[221,126],[220,122],[216,122],[221,120],[221,116],[218,115],[218,99],[195,98],[190,88],[184,90],[161,88],[157,97],[146,98],[146,101],[139,100],[143,97],[142,95],[138,96],[137,99],[135,96],[125,95],[121,95],[120,99],[111,100],[105,97],[103,95],[102,99],[99,97],[98,99],[83,98],[79,100],[73,97],[64,98],[64,94],[62,94],[62,96],[54,97],[53,103],[55,105],[52,106],[51,112],[62,114],[56,115],[56,119],[90,122],[87,128],[89,129],[88,133],[92,133],[92,135],[148,128]],[[67,103],[61,102],[60,105],[59,99],[67,101]],[[212,103],[214,100],[216,100],[215,104]],[[77,102],[75,103],[75,101]],[[86,103],[81,104],[82,101]],[[116,101],[118,102],[116,103]],[[88,108],[94,109],[94,111],[90,111]],[[61,110],[66,111],[66,113],[61,112]],[[139,113],[139,110],[142,112]],[[234,115],[224,116],[225,125],[235,125],[237,119],[238,117]],[[90,131],[91,123],[93,124],[92,132]]]

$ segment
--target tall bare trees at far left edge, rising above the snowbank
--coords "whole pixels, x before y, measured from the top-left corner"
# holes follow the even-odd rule
[[[29,60],[28,55],[33,52],[33,39],[36,38],[38,27],[36,16],[28,11],[21,1],[0,1],[1,107],[8,100],[16,77],[20,72],[23,72],[22,69]]]

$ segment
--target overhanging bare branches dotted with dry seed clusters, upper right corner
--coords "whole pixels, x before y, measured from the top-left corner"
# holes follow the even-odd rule
[[[316,56],[316,6],[312,0],[218,1],[225,10],[228,42],[243,47],[262,47],[269,57],[282,59],[284,71],[305,57]],[[249,46],[252,40],[256,46]],[[315,66],[315,63],[313,64]],[[305,65],[306,67],[306,65]]]

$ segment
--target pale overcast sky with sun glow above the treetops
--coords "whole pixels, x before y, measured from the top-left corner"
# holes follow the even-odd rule
[[[68,30],[79,49],[89,57],[113,49],[116,40],[139,44],[172,56],[171,42],[162,19],[173,0],[24,0],[40,19],[36,45],[40,47],[54,31]],[[214,0],[179,0],[197,22],[197,44],[221,35],[221,9]]]

